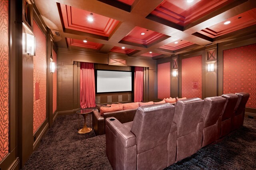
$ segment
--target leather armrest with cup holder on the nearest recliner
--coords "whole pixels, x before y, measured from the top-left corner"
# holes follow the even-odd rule
[[[112,131],[116,138],[124,145],[125,148],[136,145],[136,136],[128,130],[116,118],[109,117],[106,120],[106,126]],[[106,130],[108,130],[106,128]]]

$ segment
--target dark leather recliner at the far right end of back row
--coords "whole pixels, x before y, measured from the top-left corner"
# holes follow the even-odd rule
[[[236,93],[238,101],[231,117],[232,130],[235,130],[244,125],[245,105],[250,97],[249,93]]]

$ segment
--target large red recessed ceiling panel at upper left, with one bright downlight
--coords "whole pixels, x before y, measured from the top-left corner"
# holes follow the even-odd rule
[[[64,27],[72,30],[97,34],[108,37],[119,23],[118,20],[101,16],[90,15],[91,12],[74,8],[65,4],[60,4]],[[93,18],[93,22],[87,20]]]

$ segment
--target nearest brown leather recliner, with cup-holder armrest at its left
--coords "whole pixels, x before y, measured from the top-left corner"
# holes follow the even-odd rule
[[[167,167],[167,140],[175,107],[169,103],[139,107],[134,121],[106,119],[106,153],[112,168],[122,170]]]

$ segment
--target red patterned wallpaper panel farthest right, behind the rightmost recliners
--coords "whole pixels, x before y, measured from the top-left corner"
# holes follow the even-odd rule
[[[256,43],[223,51],[223,94],[247,92],[256,109]]]

